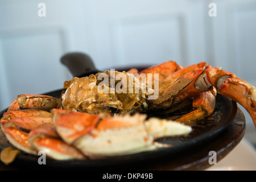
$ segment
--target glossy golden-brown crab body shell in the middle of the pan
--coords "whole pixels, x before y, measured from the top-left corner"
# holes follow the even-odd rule
[[[114,76],[112,74],[114,73]],[[63,109],[90,114],[137,113],[147,108],[148,90],[152,89],[126,72],[97,73],[88,77],[74,77],[64,82],[65,92],[61,95]],[[105,78],[101,76],[104,74]],[[112,77],[122,76],[123,80]],[[101,81],[102,80],[102,81]],[[136,92],[136,91],[137,92]]]

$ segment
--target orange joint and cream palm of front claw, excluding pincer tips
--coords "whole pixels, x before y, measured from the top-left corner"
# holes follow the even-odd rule
[[[53,109],[52,113],[61,138],[88,156],[134,152],[134,149],[150,145],[153,140],[144,130],[144,116],[105,117],[100,121],[100,115],[58,109]]]

